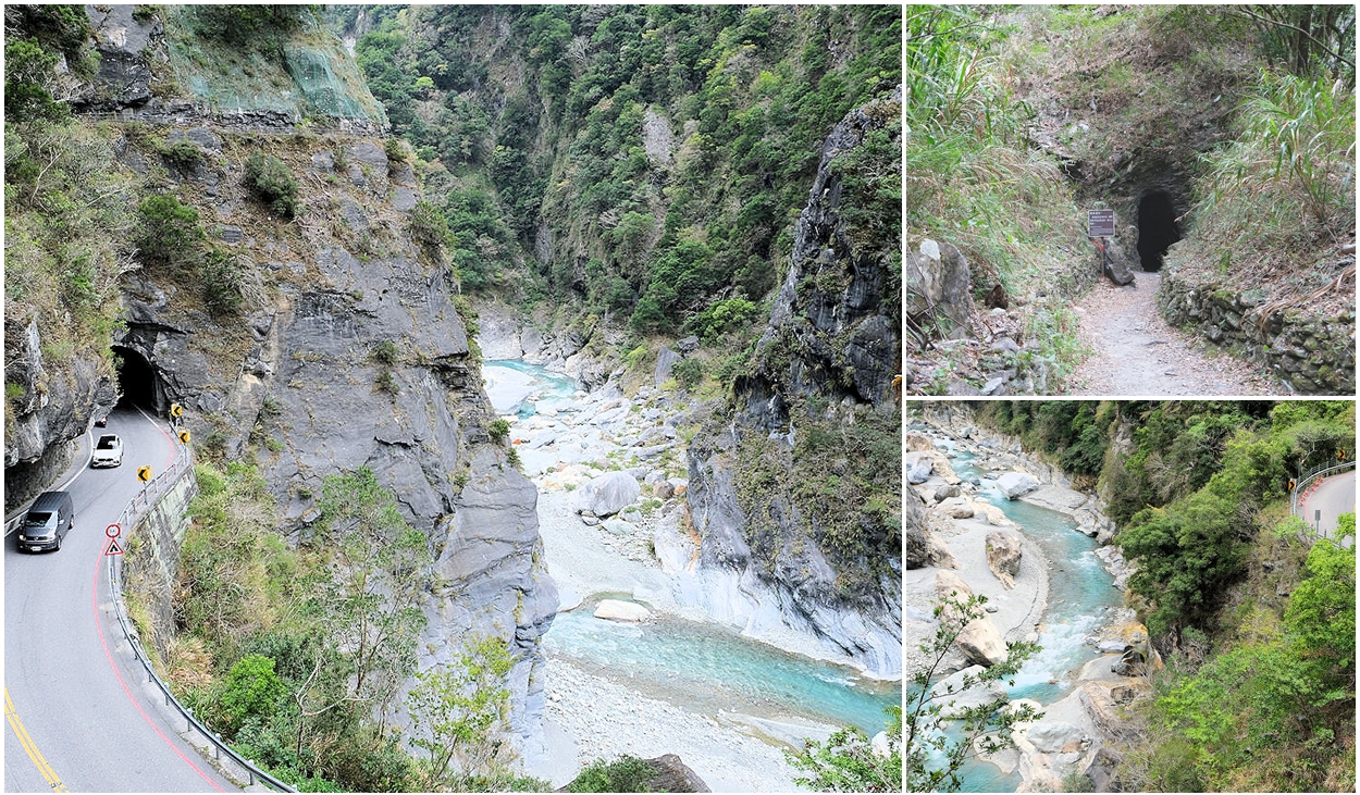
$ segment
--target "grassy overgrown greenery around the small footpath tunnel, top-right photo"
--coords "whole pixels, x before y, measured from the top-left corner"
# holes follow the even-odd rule
[[[1148,193],[1174,198],[1168,262],[1197,283],[1263,291],[1289,319],[1345,314],[1353,261],[1331,253],[1355,232],[1352,7],[911,5],[904,27],[908,242],[957,246],[978,310],[1017,313],[1021,356],[1059,382],[1084,355],[1072,300],[1099,277],[1085,211],[1117,211],[1137,266]],[[929,292],[907,287],[922,394],[979,367],[933,341],[982,334]],[[1030,366],[1015,359],[981,366]]]

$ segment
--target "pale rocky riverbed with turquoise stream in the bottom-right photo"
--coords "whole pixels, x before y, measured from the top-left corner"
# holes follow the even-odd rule
[[[1006,696],[1040,709],[1043,718],[1019,727],[1017,750],[982,757],[989,768],[970,768],[978,785],[967,788],[1061,791],[1072,773],[1100,788],[1118,758],[1108,746],[1127,727],[1121,704],[1151,689],[1138,675],[1141,665],[1122,665],[1130,654],[1151,650],[1146,629],[1123,607],[1127,567],[1117,548],[1104,546],[1114,526],[1096,496],[1072,488],[1061,470],[970,419],[957,406],[907,419],[906,466],[917,467],[913,489],[926,507],[928,544],[936,550],[933,565],[917,569],[917,586],[907,591],[917,601],[933,597],[925,583],[956,563],[955,573],[975,593],[998,594],[1001,603],[987,618],[1006,640],[1024,637],[1042,647]],[[1013,588],[987,561],[985,535],[998,530],[1023,540]],[[1024,559],[1031,556],[1035,567],[1027,568]],[[1038,622],[1031,624],[1032,610],[1021,612],[1016,602],[1043,603]],[[917,621],[917,635],[928,629],[933,632]]]

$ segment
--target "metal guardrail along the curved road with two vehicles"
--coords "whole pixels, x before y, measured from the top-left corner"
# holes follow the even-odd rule
[[[154,477],[151,482],[147,484],[147,488],[141,489],[141,492],[137,496],[132,497],[132,501],[129,501],[126,507],[122,508],[122,512],[118,515],[118,526],[131,527],[133,523],[141,520],[141,518],[146,516],[151,511],[151,508],[155,507],[155,504],[159,503],[160,499],[166,493],[169,493],[170,489],[173,489],[185,476],[193,477],[193,454],[189,451],[188,447],[177,446],[175,457],[170,465],[170,469]],[[196,485],[193,488],[197,489]],[[235,749],[228,746],[211,728],[208,728],[197,718],[194,718],[193,712],[188,707],[181,704],[180,700],[174,697],[174,694],[170,693],[170,686],[166,685],[159,675],[156,675],[156,671],[151,665],[151,659],[147,656],[146,650],[141,647],[141,639],[137,635],[137,631],[132,628],[132,622],[128,620],[128,610],[122,603],[121,554],[109,556],[109,590],[113,594],[113,607],[114,607],[114,614],[118,617],[118,628],[122,631],[122,636],[128,640],[128,646],[132,648],[132,654],[137,658],[137,662],[141,663],[143,670],[146,670],[147,674],[146,681],[154,684],[156,689],[160,690],[162,696],[165,696],[166,707],[174,707],[174,709],[184,718],[185,731],[193,730],[199,735],[201,735],[205,741],[208,741],[208,743],[212,745],[214,758],[218,760],[219,762],[222,761],[222,757],[226,756],[237,765],[239,765],[241,769],[245,771],[250,785],[253,785],[256,781],[261,781],[279,792],[296,792],[295,788],[271,776],[269,773],[261,771],[254,765],[254,762],[238,754]]]

